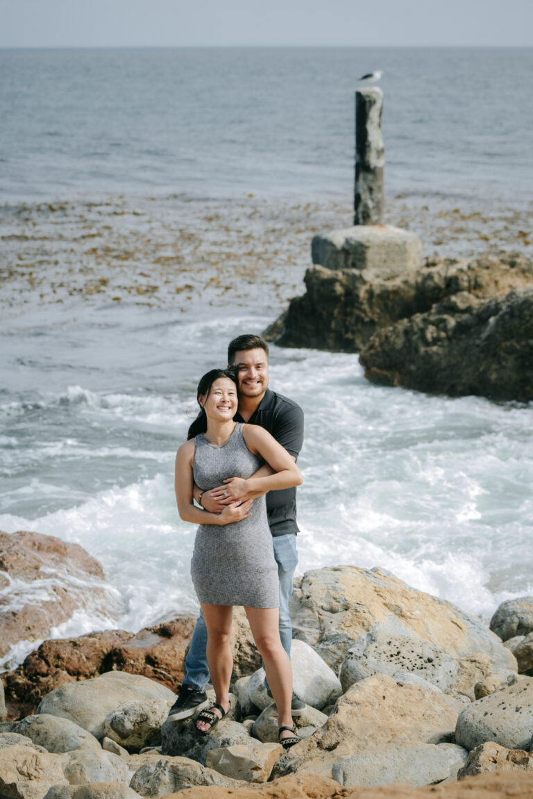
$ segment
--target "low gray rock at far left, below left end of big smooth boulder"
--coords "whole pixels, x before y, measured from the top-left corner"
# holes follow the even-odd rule
[[[26,735],[47,752],[71,752],[73,749],[100,750],[97,739],[68,718],[38,714],[15,721],[13,731]]]

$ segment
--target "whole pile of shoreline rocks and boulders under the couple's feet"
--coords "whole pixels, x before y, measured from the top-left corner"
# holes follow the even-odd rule
[[[527,631],[529,599],[500,606],[492,626],[502,634]],[[479,619],[378,568],[304,574],[292,595],[292,662],[308,706],[295,718],[300,742],[284,751],[249,630],[236,617],[229,714],[206,736],[197,733],[195,714],[166,720],[181,669],[173,657],[183,658],[194,619],[137,635],[43,642],[26,658],[26,669],[39,676],[36,693],[54,679],[64,682],[34,714],[0,724],[0,793],[119,799],[186,790],[190,799],[208,792],[203,799],[229,790],[237,797],[242,787],[247,797],[266,790],[265,797],[304,799],[311,794],[301,791],[312,785],[313,796],[324,787],[328,799],[364,790],[415,797],[424,785],[439,783],[444,792],[458,779],[467,785],[464,778],[508,786],[499,774],[485,779],[501,767],[521,789],[530,785],[533,797],[533,679],[517,673],[511,650]],[[511,621],[501,625],[502,618]],[[172,689],[164,684],[170,671]],[[12,701],[13,673],[4,679]],[[491,796],[488,787],[479,790]]]

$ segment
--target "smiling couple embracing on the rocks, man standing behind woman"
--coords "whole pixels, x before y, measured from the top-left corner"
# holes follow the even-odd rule
[[[191,575],[201,614],[169,720],[208,706],[209,674],[216,699],[197,716],[198,731],[209,733],[228,712],[232,608],[244,606],[276,702],[280,744],[288,749],[299,740],[292,715],[305,708],[292,693],[288,614],[304,414],[268,388],[268,344],[260,336],[233,339],[228,364],[201,378],[200,412],[176,456],[181,519],[200,525]]]

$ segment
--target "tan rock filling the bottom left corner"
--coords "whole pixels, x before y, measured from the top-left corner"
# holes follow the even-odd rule
[[[66,784],[62,757],[28,746],[0,749],[0,797],[42,799],[52,785]]]

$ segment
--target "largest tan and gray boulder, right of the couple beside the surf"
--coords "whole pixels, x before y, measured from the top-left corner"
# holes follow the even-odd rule
[[[511,652],[479,618],[379,569],[332,566],[306,572],[295,581],[291,617],[296,638],[334,670],[353,642],[374,630],[436,644],[458,660],[483,653],[492,670],[516,670]]]

